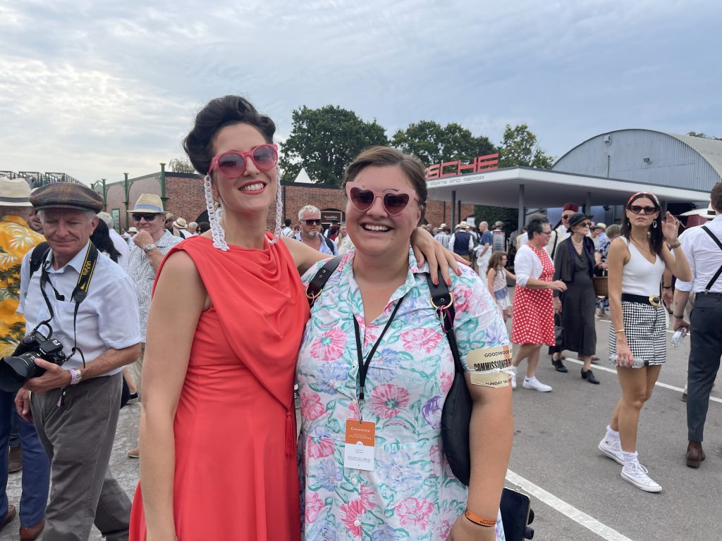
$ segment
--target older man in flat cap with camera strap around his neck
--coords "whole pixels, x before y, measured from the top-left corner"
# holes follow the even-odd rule
[[[103,208],[100,195],[81,184],[53,182],[32,193],[30,203],[50,249],[37,268],[30,254],[22,260],[18,312],[25,314],[26,335],[52,329],[68,358],[62,366],[37,359],[45,372],[28,379],[15,398],[51,459],[45,539],[85,541],[95,523],[106,540],[127,540],[131,502],[108,463],[121,371],[140,351],[135,288],[90,242]]]

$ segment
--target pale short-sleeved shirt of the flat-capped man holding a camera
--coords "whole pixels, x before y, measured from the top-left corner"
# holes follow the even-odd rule
[[[90,242],[88,243],[90,244]],[[70,355],[73,347],[73,312],[75,303],[71,294],[80,276],[80,270],[85,260],[87,246],[80,250],[69,263],[56,271],[51,265],[52,250],[45,259],[45,270],[48,272],[50,282],[58,293],[65,297],[64,301],[56,299],[51,283],[45,284],[45,294],[48,295],[53,308],[53,338],[63,344],[63,352]],[[31,250],[32,252],[32,250]],[[42,269],[38,268],[30,278],[30,253],[22,258],[20,268],[20,301],[17,312],[25,315],[25,333],[29,334],[35,326],[50,317],[48,305],[45,304],[43,294],[40,292],[40,276]],[[134,346],[140,340],[140,322],[138,315],[138,300],[135,287],[130,277],[118,263],[110,258],[98,254],[95,271],[93,271],[88,287],[88,294],[79,305],[76,322],[77,346],[85,356],[88,363],[96,359],[108,349],[123,349]],[[47,329],[41,332],[45,334]],[[82,359],[76,353],[63,365],[64,369],[79,368]],[[103,374],[110,376],[122,371],[120,366]]]

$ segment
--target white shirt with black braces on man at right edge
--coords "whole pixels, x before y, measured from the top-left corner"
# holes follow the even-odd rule
[[[704,225],[722,242],[722,214]],[[694,291],[695,293],[705,291],[707,284],[722,265],[722,250],[702,229],[702,226],[690,227],[684,231],[679,235],[679,242],[682,242],[682,251],[687,257],[687,261],[690,262],[692,280],[683,282],[678,279],[675,287],[679,291]],[[722,292],[722,276],[719,276],[717,281],[712,284],[710,291]]]

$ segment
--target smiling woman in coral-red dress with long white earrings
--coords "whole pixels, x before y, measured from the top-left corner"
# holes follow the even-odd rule
[[[309,310],[299,272],[327,256],[280,234],[274,131],[247,100],[225,96],[183,141],[206,172],[211,229],[158,269],[131,541],[300,538],[293,381]],[[430,241],[421,245],[435,269],[443,250]]]

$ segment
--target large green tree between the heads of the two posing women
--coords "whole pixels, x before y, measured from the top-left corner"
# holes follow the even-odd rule
[[[388,145],[386,130],[376,120],[365,122],[337,105],[304,105],[293,111],[291,135],[283,144],[282,180],[294,180],[304,167],[316,182],[341,185],[347,165],[373,145]]]

